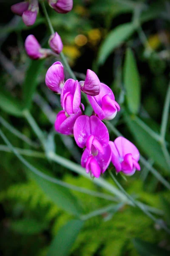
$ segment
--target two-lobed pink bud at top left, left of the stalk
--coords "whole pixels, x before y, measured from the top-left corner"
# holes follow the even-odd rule
[[[22,16],[26,26],[32,26],[35,23],[39,12],[38,0],[30,0],[29,2],[21,2],[11,6],[11,11]]]

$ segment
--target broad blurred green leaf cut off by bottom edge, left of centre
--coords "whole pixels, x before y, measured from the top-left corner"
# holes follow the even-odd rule
[[[82,228],[83,221],[71,220],[64,225],[51,243],[47,256],[67,256]]]

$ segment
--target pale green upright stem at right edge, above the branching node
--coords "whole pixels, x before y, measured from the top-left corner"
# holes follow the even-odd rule
[[[170,83],[167,89],[166,99],[164,103],[164,110],[163,110],[162,120],[161,120],[161,139],[163,141],[166,134],[169,111],[170,111]]]

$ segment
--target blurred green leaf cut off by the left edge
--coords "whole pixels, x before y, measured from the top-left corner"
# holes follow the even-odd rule
[[[0,92],[0,108],[13,116],[22,116],[22,109],[19,102],[6,92]]]

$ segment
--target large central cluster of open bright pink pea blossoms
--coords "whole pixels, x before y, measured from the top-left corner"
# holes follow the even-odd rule
[[[112,162],[116,172],[133,175],[140,170],[139,151],[124,137],[109,140],[108,129],[102,120],[111,120],[120,110],[112,90],[99,81],[92,70],[87,70],[85,81],[68,79],[65,81],[64,68],[57,61],[47,71],[45,83],[48,88],[60,94],[62,111],[57,114],[55,129],[65,135],[74,135],[83,148],[81,165],[92,177],[102,175]],[[81,92],[93,108],[91,116],[84,114]]]

